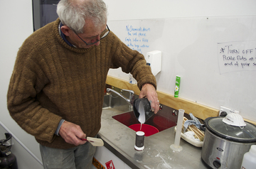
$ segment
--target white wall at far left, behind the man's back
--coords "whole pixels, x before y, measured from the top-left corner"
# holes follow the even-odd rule
[[[32,1],[31,0],[1,0],[0,1],[0,121],[16,135],[39,159],[41,159],[38,143],[33,136],[23,131],[16,122],[9,116],[6,107],[6,94],[9,86],[9,80],[18,48],[23,41],[33,33],[32,26]],[[1,133],[6,132],[1,128]],[[2,136],[2,135],[1,135]],[[2,137],[1,137],[2,138]],[[0,138],[0,139],[1,139]],[[12,148],[18,159],[18,167],[31,168],[29,166],[41,165],[36,160],[24,158],[29,156],[26,151],[18,144]],[[18,151],[16,151],[18,150]],[[23,153],[24,152],[24,153]],[[31,164],[29,164],[31,163]],[[28,165],[29,164],[29,165]]]

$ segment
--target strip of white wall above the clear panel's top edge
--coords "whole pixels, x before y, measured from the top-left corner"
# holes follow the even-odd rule
[[[255,0],[105,0],[109,21],[198,16],[255,16]]]

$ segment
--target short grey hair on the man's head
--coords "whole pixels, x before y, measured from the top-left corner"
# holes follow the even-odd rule
[[[107,22],[107,6],[102,0],[60,0],[57,13],[60,21],[76,33],[83,33],[87,18],[92,20],[95,28]]]

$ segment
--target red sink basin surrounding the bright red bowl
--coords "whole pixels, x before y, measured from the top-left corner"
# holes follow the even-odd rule
[[[151,126],[156,127],[159,132],[164,131],[165,129],[169,129],[172,126],[176,126],[178,116],[176,114],[172,114],[172,110],[170,107],[166,107],[163,105],[163,109],[159,111],[157,114],[151,116],[145,124],[149,124]],[[134,111],[129,111],[123,114],[117,114],[112,116],[113,119],[119,121],[125,126],[131,126],[132,124],[140,124],[134,115]]]

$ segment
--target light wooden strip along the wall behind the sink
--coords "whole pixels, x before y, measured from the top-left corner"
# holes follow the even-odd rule
[[[112,77],[110,75],[107,76],[106,84],[118,87],[119,89],[132,89],[137,95],[139,95],[140,92],[139,88],[137,87],[137,84],[130,84],[126,80],[121,80],[117,77]],[[185,110],[186,114],[192,113],[199,119],[204,120],[210,116],[218,116],[219,114],[218,109],[213,109],[211,107],[207,107],[196,102],[191,102],[180,97],[174,97],[174,95],[166,94],[158,90],[156,92],[159,97],[159,102],[161,104],[164,104],[167,107],[171,107],[174,109],[183,109]],[[248,121],[256,125],[255,121],[250,121],[248,119],[245,119],[245,121]]]

